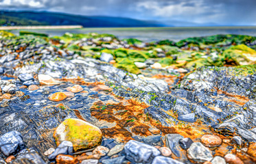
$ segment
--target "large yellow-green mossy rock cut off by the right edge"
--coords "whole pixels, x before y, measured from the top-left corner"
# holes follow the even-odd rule
[[[244,44],[231,46],[231,48],[226,49],[222,55],[228,61],[235,61],[237,66],[256,64],[256,51]]]

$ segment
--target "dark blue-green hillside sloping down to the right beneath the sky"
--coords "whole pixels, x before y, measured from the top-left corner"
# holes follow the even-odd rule
[[[83,27],[163,27],[154,21],[55,12],[0,12],[0,25],[82,25]]]

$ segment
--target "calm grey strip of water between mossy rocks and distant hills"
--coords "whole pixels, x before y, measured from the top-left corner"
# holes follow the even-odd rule
[[[146,42],[170,39],[178,41],[194,36],[211,36],[216,34],[241,34],[256,36],[256,27],[148,27],[148,28],[84,28],[84,29],[34,29],[49,36],[62,36],[64,33],[111,33],[120,39],[137,38]],[[19,30],[12,30],[18,34]]]

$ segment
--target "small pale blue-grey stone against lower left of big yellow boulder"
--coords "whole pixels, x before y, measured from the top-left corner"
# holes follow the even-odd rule
[[[58,154],[73,154],[73,143],[71,141],[62,141],[58,148],[48,156],[48,159],[54,160]]]

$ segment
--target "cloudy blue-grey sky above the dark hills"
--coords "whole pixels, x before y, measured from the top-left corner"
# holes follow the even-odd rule
[[[0,0],[0,8],[218,25],[256,25],[256,0]]]

